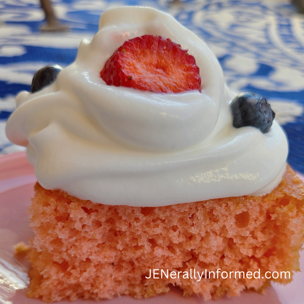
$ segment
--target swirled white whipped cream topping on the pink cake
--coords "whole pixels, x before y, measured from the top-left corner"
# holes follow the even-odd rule
[[[126,40],[170,38],[193,55],[202,92],[156,94],[108,86],[106,60]],[[264,195],[281,181],[288,143],[273,122],[263,134],[233,128],[223,72],[206,44],[155,9],[102,14],[92,42],[39,92],[21,92],[9,140],[27,147],[39,183],[109,205],[166,206]]]

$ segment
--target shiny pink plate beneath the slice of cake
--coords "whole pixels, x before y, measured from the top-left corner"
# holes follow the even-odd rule
[[[34,169],[27,161],[25,152],[0,157],[0,303],[43,303],[40,300],[30,299],[26,296],[28,265],[24,261],[19,261],[13,255],[14,245],[22,241],[28,243],[29,237],[33,235],[29,227],[26,210],[31,204],[35,182]],[[303,254],[300,263],[304,264]],[[102,302],[109,304],[302,304],[304,299],[303,285],[304,274],[298,272],[295,274],[291,284],[286,286],[274,285],[273,288],[267,288],[266,294],[242,292],[240,297],[204,302],[202,298],[196,296],[184,298],[180,290],[172,288],[166,295],[154,298],[138,300],[122,296]],[[60,301],[60,304],[65,303],[71,302]],[[74,303],[93,304],[95,301],[78,300]]]

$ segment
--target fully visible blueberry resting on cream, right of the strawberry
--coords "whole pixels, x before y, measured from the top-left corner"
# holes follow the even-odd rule
[[[237,95],[231,102],[231,110],[235,128],[253,126],[262,133],[270,130],[275,118],[275,112],[266,99],[250,92]]]

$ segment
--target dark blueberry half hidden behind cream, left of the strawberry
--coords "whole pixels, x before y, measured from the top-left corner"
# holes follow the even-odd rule
[[[39,91],[54,82],[60,71],[62,71],[62,67],[57,64],[48,65],[47,67],[38,70],[32,80],[31,93]]]

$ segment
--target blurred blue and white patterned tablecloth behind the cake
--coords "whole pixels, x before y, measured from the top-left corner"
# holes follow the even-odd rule
[[[0,1],[0,154],[23,149],[5,136],[15,95],[49,64],[65,67],[83,38],[98,30],[100,14],[118,5],[147,5],[172,14],[206,40],[235,91],[263,95],[288,134],[288,162],[304,173],[304,15],[283,2],[224,0],[53,0],[67,33],[40,33],[39,0]]]

